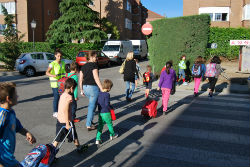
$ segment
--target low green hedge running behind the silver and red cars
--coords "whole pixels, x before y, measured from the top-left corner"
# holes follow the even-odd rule
[[[35,42],[35,50],[33,50],[33,43],[32,42],[20,43],[21,53],[28,53],[28,52],[33,52],[33,51],[54,53],[56,48],[59,48],[62,51],[64,58],[70,59],[70,60],[75,60],[76,55],[80,50],[100,50],[101,44],[67,43],[67,44],[53,45],[53,44],[49,44],[47,42]]]

